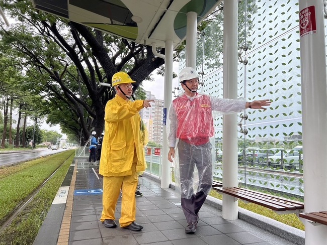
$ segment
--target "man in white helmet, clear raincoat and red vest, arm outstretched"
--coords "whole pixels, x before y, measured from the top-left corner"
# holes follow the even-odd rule
[[[209,194],[213,181],[214,149],[210,139],[214,139],[213,111],[220,114],[239,112],[246,108],[266,109],[270,101],[247,102],[244,98],[222,99],[197,92],[199,79],[192,67],[180,73],[180,83],[185,93],[173,100],[169,110],[169,153],[168,160],[174,160],[177,189],[181,191],[181,201],[187,226],[185,233],[196,232],[199,211]],[[214,141],[213,141],[214,142]]]

